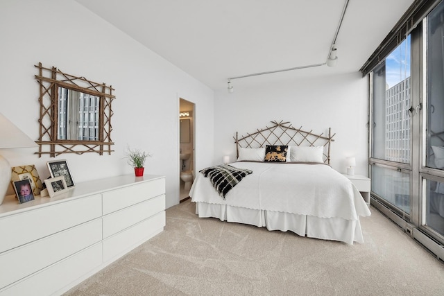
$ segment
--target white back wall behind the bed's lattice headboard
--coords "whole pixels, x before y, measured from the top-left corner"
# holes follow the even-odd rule
[[[345,158],[355,156],[355,173],[368,175],[368,80],[360,73],[268,82],[259,87],[243,87],[240,81],[237,86],[237,81],[232,80],[232,94],[226,89],[216,92],[216,162],[222,162],[223,155],[236,159],[235,132],[240,137],[269,126],[270,121],[284,120],[316,133],[328,134],[332,128],[336,133],[332,167],[345,173]]]

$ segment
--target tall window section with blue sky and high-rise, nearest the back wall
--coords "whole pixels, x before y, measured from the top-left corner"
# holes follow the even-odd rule
[[[410,214],[410,49],[408,36],[373,71],[372,191]],[[378,163],[378,159],[380,162]]]

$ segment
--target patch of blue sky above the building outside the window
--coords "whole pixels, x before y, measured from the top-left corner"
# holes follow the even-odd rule
[[[386,58],[386,83],[393,87],[410,77],[410,35]]]

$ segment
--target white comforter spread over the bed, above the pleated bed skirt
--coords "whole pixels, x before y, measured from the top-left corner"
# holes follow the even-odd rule
[[[279,211],[320,218],[359,220],[370,216],[364,199],[347,177],[325,164],[235,162],[253,171],[225,196],[198,173],[189,195],[193,202]]]

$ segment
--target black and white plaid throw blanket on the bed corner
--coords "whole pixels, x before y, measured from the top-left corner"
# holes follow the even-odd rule
[[[199,171],[199,173],[203,173],[205,177],[210,177],[214,189],[216,189],[219,195],[225,200],[225,195],[228,191],[239,184],[246,175],[253,173],[253,171],[244,168],[235,168],[229,164],[220,164],[219,166],[204,168]]]

